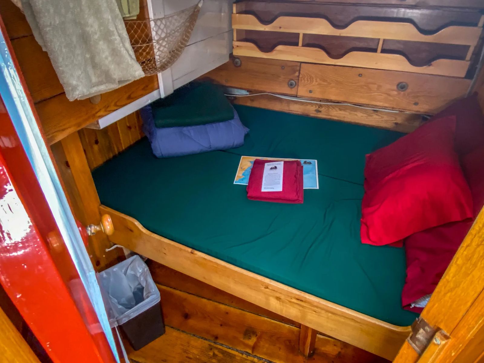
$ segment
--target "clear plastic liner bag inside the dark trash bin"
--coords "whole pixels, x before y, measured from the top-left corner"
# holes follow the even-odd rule
[[[133,256],[100,272],[107,315],[121,325],[160,302],[160,291],[151,278],[148,266]],[[112,325],[111,325],[112,326]]]

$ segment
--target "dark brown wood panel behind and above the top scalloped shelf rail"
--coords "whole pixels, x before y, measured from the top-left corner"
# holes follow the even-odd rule
[[[428,3],[428,1],[422,0],[406,0],[406,4],[409,4],[409,1],[414,3],[419,1],[422,5]],[[441,2],[440,0],[430,1]],[[464,3],[459,0],[453,1],[455,4]],[[472,1],[482,4],[481,0]],[[234,12],[257,15],[257,18],[265,24],[271,23],[280,15],[328,18],[338,28],[346,28],[355,18],[358,18],[358,20],[386,20],[394,18],[403,22],[415,23],[419,29],[430,32],[435,32],[449,23],[476,27],[479,26],[479,21],[481,20],[481,14],[475,10],[458,9],[456,11],[456,9],[406,7],[402,6],[401,0],[394,0],[394,4],[398,6],[354,6],[359,1],[352,0],[318,2],[242,1],[237,3]],[[340,4],[331,4],[331,2],[339,2]],[[367,1],[367,3],[371,5],[371,1]]]

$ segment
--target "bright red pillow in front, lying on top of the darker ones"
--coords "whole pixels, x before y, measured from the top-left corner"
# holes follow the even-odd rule
[[[430,121],[366,155],[363,243],[384,245],[472,216],[472,198],[454,151],[455,118]]]

